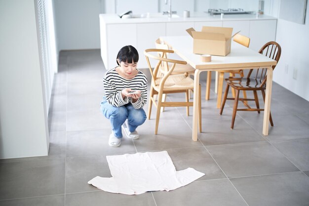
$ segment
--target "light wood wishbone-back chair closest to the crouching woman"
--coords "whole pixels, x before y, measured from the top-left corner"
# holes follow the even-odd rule
[[[163,58],[161,56],[153,55],[154,52],[161,52],[162,56],[165,56],[166,53],[173,53],[173,50],[166,49],[146,49],[144,54],[146,56],[146,60],[149,66],[149,70],[152,76],[151,88],[150,88],[150,99],[149,99],[149,108],[148,108],[148,119],[151,117],[152,105],[157,108],[156,110],[156,118],[155,118],[155,130],[154,134],[157,134],[159,118],[160,118],[160,108],[161,107],[189,107],[193,106],[193,102],[189,102],[189,92],[193,89],[194,81],[192,78],[186,76],[185,74],[177,74],[172,75],[174,69],[177,65],[187,64],[186,61],[175,60]],[[153,68],[150,63],[150,59],[158,60],[156,66]],[[171,66],[161,67],[161,64],[170,63]],[[158,76],[158,72],[162,74],[162,76]],[[200,85],[199,85],[200,92]],[[185,102],[164,102],[162,101],[163,94],[169,93],[185,93],[186,101]],[[157,95],[157,100],[155,100],[154,95]],[[200,95],[198,99],[199,104],[199,131],[201,132],[201,101]],[[188,113],[187,113],[188,114]]]

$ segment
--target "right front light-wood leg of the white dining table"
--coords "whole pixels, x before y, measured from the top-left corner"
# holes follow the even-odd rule
[[[266,96],[264,105],[264,120],[263,120],[263,134],[268,135],[270,122],[270,101],[271,101],[271,87],[272,87],[272,67],[267,67],[267,81],[266,81]]]

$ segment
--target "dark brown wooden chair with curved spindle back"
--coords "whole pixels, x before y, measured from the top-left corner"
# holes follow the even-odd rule
[[[268,56],[269,58],[278,62],[281,55],[281,47],[277,42],[270,41],[260,49],[259,53]],[[272,69],[274,68],[275,65],[272,66]],[[253,71],[255,71],[255,73],[253,73]],[[263,100],[265,103],[266,78],[267,78],[267,69],[259,68],[259,69],[251,69],[248,73],[247,78],[230,77],[225,80],[227,82],[227,88],[224,93],[224,99],[222,102],[220,115],[222,115],[226,100],[227,99],[234,100],[231,129],[234,128],[234,122],[237,111],[257,111],[258,113],[260,113],[260,111],[264,111],[264,109],[260,109],[257,91],[260,90],[262,92]],[[228,92],[230,87],[232,87],[236,91],[234,98],[228,98]],[[254,99],[239,98],[239,91],[241,90],[253,91]],[[246,109],[238,109],[239,100],[244,103],[244,105],[247,107]],[[256,108],[251,108],[247,103],[245,103],[245,101],[255,101]],[[271,114],[270,114],[270,125],[273,126]]]

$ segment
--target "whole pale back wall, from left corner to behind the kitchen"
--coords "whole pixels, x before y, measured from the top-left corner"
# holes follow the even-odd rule
[[[53,0],[57,51],[100,48],[99,14],[167,11],[165,0]],[[269,8],[272,0],[265,0]],[[130,5],[130,6],[128,6]],[[258,0],[172,0],[172,10],[207,11],[209,8],[257,10]]]

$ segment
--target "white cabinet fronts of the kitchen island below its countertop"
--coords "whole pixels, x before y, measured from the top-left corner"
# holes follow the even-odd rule
[[[248,36],[250,38],[249,48],[258,51],[266,42],[275,40],[277,23],[276,19],[222,21],[140,19],[132,22],[133,19],[130,23],[118,23],[119,19],[116,17],[109,17],[110,22],[106,23],[104,16],[100,15],[101,56],[106,69],[116,66],[117,52],[125,45],[132,45],[138,50],[140,55],[138,68],[148,68],[144,56],[145,49],[154,48],[154,41],[161,36],[188,35],[186,29],[191,27],[196,31],[201,31],[202,26],[232,27],[233,33],[240,30],[240,34]]]

